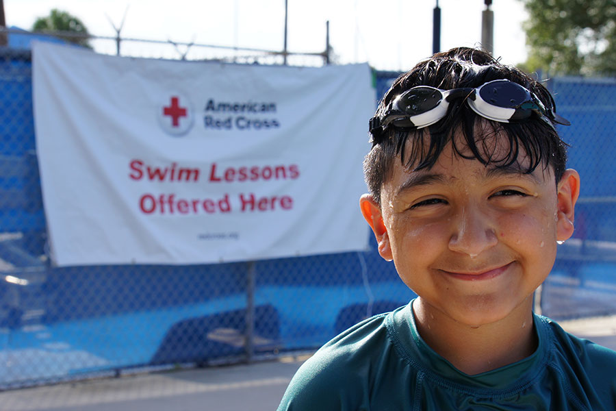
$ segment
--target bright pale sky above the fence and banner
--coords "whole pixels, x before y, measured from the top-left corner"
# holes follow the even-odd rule
[[[379,70],[404,71],[432,54],[436,0],[287,0],[287,49],[320,52],[330,44],[339,64],[368,62]],[[480,45],[483,0],[439,0],[441,50]],[[4,0],[8,26],[30,29],[58,8],[77,16],[96,36],[172,40],[229,47],[282,50],[285,0]],[[526,60],[522,1],[493,0],[494,55],[506,64]],[[144,57],[177,58],[185,47],[123,43]],[[114,53],[111,40],[94,49]],[[193,49],[188,50],[190,53]],[[133,52],[134,53],[134,52]],[[190,55],[188,55],[190,58]]]

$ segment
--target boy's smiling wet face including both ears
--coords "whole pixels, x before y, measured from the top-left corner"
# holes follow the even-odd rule
[[[509,149],[500,141],[486,149]],[[530,307],[554,264],[556,240],[573,233],[578,190],[573,170],[556,188],[551,167],[500,170],[454,155],[449,143],[429,170],[407,171],[395,160],[381,204],[365,195],[361,208],[402,281],[428,306],[478,326]]]

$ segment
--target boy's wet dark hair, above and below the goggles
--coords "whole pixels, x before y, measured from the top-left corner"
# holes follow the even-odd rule
[[[513,66],[501,64],[485,51],[457,47],[437,53],[400,75],[385,93],[376,115],[383,114],[390,101],[415,86],[432,86],[442,90],[476,88],[496,79],[508,79],[524,86],[535,93],[548,110],[556,111],[550,92],[535,79]],[[480,130],[479,136],[474,135],[477,130]],[[453,138],[458,131],[461,131],[462,147],[459,147],[459,139]],[[409,138],[413,142],[411,145],[407,145]],[[499,142],[506,139],[509,150],[504,155],[490,149],[495,139]],[[381,202],[381,188],[392,176],[394,158],[399,157],[411,171],[431,169],[450,141],[454,155],[476,159],[486,166],[515,166],[519,155],[525,155],[527,161],[520,169],[522,173],[532,173],[540,164],[545,169],[552,166],[558,183],[565,172],[567,145],[547,119],[532,116],[518,123],[489,121],[476,114],[463,99],[454,99],[446,116],[434,125],[411,131],[389,127],[374,140],[363,161],[365,182],[374,200]]]

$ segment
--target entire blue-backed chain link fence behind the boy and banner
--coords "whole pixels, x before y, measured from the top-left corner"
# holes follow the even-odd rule
[[[377,72],[380,96],[397,73]],[[616,313],[616,81],[554,79],[574,238],[541,292],[556,319]],[[34,145],[29,51],[0,49],[0,389],[311,351],[415,295],[370,251],[191,266],[57,268]],[[366,233],[368,235],[368,226]]]

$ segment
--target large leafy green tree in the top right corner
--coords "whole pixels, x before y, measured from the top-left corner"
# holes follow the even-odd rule
[[[616,0],[522,0],[524,68],[550,75],[616,74]]]

